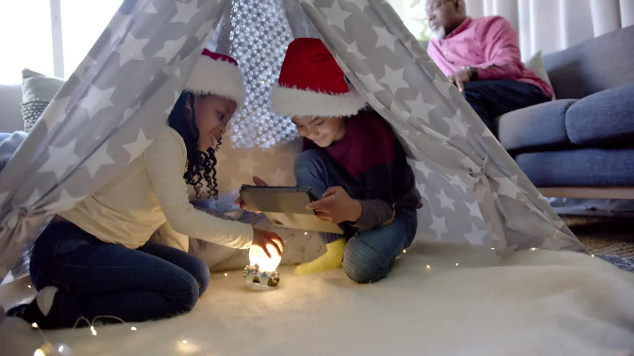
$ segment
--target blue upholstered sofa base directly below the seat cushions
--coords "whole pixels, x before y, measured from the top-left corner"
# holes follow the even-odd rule
[[[522,153],[515,162],[538,187],[634,186],[634,148]]]

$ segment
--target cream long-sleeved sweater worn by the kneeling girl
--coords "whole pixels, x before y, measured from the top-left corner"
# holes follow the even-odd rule
[[[59,215],[102,241],[129,248],[145,244],[157,229],[163,241],[176,241],[174,246],[184,250],[187,236],[249,248],[249,224],[219,219],[191,205],[183,179],[186,156],[183,138],[165,126],[117,178]]]

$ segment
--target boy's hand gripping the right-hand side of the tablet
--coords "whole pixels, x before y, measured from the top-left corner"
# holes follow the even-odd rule
[[[344,221],[356,221],[361,216],[361,202],[350,198],[341,187],[330,187],[323,198],[306,206],[314,210],[318,219],[339,224]]]

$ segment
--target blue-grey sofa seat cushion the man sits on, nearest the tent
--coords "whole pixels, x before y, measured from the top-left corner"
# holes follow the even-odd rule
[[[548,101],[498,117],[498,139],[507,151],[570,148],[566,134],[566,110],[576,100]]]

